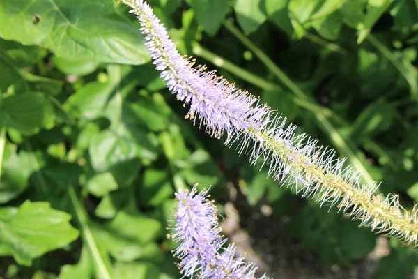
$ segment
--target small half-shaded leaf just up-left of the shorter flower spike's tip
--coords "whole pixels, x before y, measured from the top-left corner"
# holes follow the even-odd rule
[[[148,206],[158,206],[173,195],[167,172],[147,169],[139,186],[139,201]]]

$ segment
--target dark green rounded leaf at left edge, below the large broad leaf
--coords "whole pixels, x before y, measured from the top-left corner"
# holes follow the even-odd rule
[[[35,133],[44,121],[44,98],[41,93],[23,93],[0,100],[0,126],[23,134]]]

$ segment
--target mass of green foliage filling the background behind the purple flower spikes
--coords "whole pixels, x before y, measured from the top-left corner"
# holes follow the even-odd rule
[[[183,54],[335,146],[364,183],[415,202],[417,3],[150,4]],[[268,204],[326,264],[349,266],[375,246],[367,230],[279,188],[184,121],[123,5],[0,1],[0,15],[4,277],[177,278],[167,211],[173,191],[196,182],[220,203],[232,182],[254,211]],[[417,264],[391,246],[376,278],[405,278]]]

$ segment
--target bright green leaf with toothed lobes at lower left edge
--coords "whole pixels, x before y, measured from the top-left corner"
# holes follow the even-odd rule
[[[35,257],[68,245],[79,236],[68,213],[51,209],[47,202],[26,201],[19,208],[0,209],[0,255],[31,265]]]

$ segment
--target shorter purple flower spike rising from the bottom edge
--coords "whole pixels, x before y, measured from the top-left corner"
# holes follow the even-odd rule
[[[233,244],[222,248],[226,239],[220,235],[217,208],[208,199],[208,191],[198,193],[196,186],[191,192],[176,193],[178,206],[171,220],[174,225],[169,227],[171,234],[167,234],[180,242],[173,254],[181,259],[178,266],[183,275],[199,279],[255,279],[256,266],[244,262],[244,257],[235,257]]]

